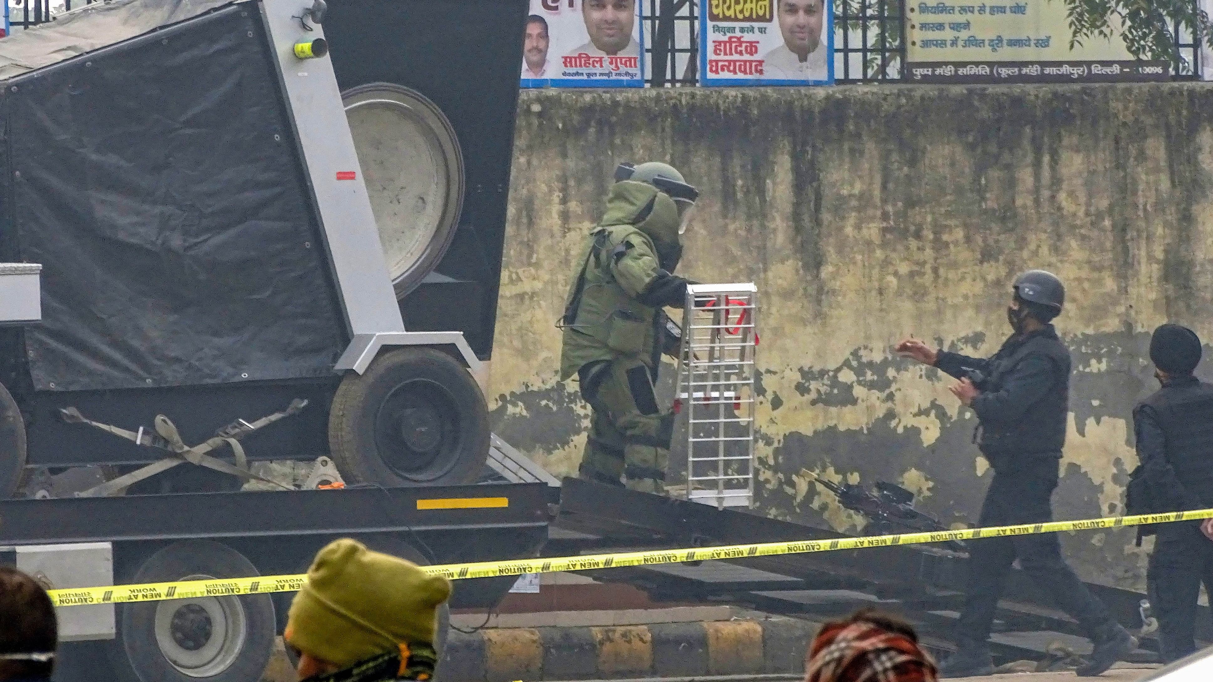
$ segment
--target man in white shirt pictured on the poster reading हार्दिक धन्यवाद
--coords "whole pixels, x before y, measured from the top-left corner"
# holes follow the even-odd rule
[[[784,44],[763,55],[763,78],[768,80],[826,80],[828,47],[821,40],[825,0],[776,0],[779,30]]]

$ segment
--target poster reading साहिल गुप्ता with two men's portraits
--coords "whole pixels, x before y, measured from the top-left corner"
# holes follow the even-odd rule
[[[523,87],[643,87],[643,0],[530,0]]]

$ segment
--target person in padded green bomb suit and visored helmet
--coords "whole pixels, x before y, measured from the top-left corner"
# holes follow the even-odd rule
[[[577,375],[592,410],[579,474],[586,481],[665,493],[674,415],[653,391],[661,353],[679,339],[665,307],[683,307],[682,257],[699,192],[668,164],[620,164],[606,212],[591,229],[559,326],[560,380]]]

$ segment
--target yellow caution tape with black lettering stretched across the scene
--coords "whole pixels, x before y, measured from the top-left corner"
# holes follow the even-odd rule
[[[422,567],[432,575],[451,580],[467,578],[497,578],[524,573],[560,573],[566,570],[596,570],[634,566],[655,566],[687,561],[738,559],[771,557],[779,555],[804,555],[837,550],[864,550],[869,547],[893,547],[899,545],[923,545],[952,540],[980,540],[983,538],[1007,538],[1064,530],[1097,530],[1123,525],[1173,523],[1213,518],[1213,508],[1171,513],[1116,516],[1083,521],[1053,521],[1049,523],[1025,523],[1021,525],[997,525],[940,530],[927,533],[901,533],[898,535],[871,535],[867,538],[837,538],[833,540],[795,540],[790,542],[759,542],[754,545],[723,545],[718,547],[694,547],[688,550],[656,550],[614,555],[585,555],[577,557],[549,557],[518,561],[489,561]],[[303,586],[307,575],[262,575],[257,578],[232,578],[223,580],[184,580],[173,582],[148,582],[142,585],[112,585],[108,587],[78,587],[50,590],[55,606],[118,604],[129,602],[156,602],[163,599],[187,599],[198,597],[227,597],[235,595],[267,595],[294,592]]]

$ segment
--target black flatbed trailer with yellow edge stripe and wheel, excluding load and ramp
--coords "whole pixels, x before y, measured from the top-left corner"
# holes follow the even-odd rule
[[[303,573],[342,536],[418,564],[535,556],[542,483],[0,501],[0,563],[52,587]],[[99,580],[99,581],[98,581]],[[452,608],[496,604],[516,578],[463,580]],[[59,609],[56,678],[260,678],[291,592]],[[439,649],[449,610],[442,613]]]

